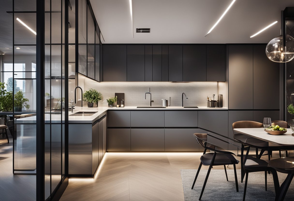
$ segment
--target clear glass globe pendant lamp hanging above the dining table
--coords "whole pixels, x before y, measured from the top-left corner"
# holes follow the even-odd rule
[[[283,46],[283,36],[271,40],[265,49],[266,56],[274,62],[285,63],[294,58],[294,38],[286,35],[286,46]]]

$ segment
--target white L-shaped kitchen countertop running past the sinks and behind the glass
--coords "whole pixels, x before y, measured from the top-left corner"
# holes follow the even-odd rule
[[[107,110],[228,110],[228,108],[208,108],[205,106],[198,106],[199,108],[183,108],[183,107],[166,107],[166,108],[137,108],[137,106],[126,106],[124,108],[109,108],[109,107],[75,107],[74,113],[79,111],[94,111],[97,113],[91,116],[69,116],[69,123],[94,123],[99,119],[99,115],[106,112]],[[69,111],[69,115],[72,114]],[[51,123],[61,123],[64,122],[64,112],[62,114],[52,114],[51,115]],[[26,117],[16,119],[15,123],[36,123],[36,116]],[[50,123],[50,114],[45,114],[45,123]]]

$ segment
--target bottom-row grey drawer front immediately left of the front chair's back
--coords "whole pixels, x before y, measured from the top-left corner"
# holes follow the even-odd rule
[[[197,128],[165,128],[165,151],[199,151],[194,133],[202,133]]]

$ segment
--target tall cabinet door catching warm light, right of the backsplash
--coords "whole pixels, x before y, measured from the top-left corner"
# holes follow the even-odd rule
[[[253,109],[252,45],[229,46],[229,109]]]

